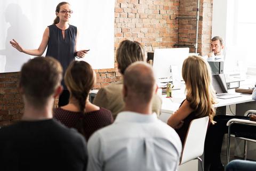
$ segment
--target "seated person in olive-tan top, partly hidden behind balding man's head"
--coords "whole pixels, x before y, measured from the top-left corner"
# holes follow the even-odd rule
[[[145,60],[145,53],[142,45],[139,42],[124,40],[119,44],[116,51],[116,58],[118,63],[118,70],[121,75],[130,64],[136,61]],[[124,110],[124,100],[122,95],[123,81],[110,84],[108,86],[100,88],[99,92],[93,100],[93,104],[99,107],[106,108],[113,113],[113,117],[116,118],[117,113]],[[159,116],[161,113],[162,99],[158,95],[153,95],[152,110]]]

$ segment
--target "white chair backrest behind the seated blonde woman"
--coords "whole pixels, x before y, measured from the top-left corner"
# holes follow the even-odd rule
[[[180,165],[202,156],[208,124],[208,116],[191,121],[182,149]]]

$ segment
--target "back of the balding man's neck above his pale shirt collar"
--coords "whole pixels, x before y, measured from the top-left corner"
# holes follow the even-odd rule
[[[141,113],[144,115],[152,114],[152,106],[149,104],[141,104],[141,103],[127,103],[125,104],[124,111],[132,111]]]

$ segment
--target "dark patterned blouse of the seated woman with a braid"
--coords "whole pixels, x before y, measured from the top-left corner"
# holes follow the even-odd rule
[[[95,131],[112,124],[114,121],[112,113],[104,108],[84,114],[57,108],[54,109],[53,118],[69,128],[77,128],[87,141]]]

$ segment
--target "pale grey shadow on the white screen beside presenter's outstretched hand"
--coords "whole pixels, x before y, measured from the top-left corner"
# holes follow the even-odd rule
[[[5,57],[5,64],[0,66],[0,72],[17,72],[22,64],[30,59],[30,55],[19,52],[9,42],[15,39],[23,48],[34,47],[33,27],[18,4],[9,4],[4,14],[5,22],[9,23],[10,27],[4,28],[7,30],[6,35],[3,35],[6,37],[5,49],[0,50],[0,55]]]

